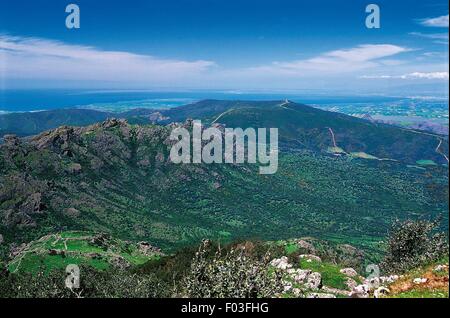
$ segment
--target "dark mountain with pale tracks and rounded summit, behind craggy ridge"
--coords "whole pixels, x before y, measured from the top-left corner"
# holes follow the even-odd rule
[[[410,164],[432,160],[448,164],[446,137],[373,123],[290,101],[215,101],[167,110],[168,121],[186,118],[219,122],[226,127],[276,127],[280,143],[294,149],[370,155]],[[439,145],[439,147],[438,147]],[[368,157],[368,156],[367,156]]]

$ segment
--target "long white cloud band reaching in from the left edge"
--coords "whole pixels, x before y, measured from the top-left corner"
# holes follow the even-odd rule
[[[59,41],[0,34],[0,78],[172,83],[210,69],[211,61],[162,59]]]

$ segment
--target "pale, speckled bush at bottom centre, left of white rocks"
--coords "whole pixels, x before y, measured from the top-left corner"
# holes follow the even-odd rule
[[[220,249],[211,255],[204,241],[182,284],[182,296],[192,298],[268,298],[283,290],[281,275],[269,272],[269,254],[262,260],[245,253],[245,248]]]

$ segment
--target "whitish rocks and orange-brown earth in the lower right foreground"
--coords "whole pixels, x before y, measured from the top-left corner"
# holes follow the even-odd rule
[[[320,257],[311,254],[300,255],[299,261],[316,265],[322,263]],[[371,275],[366,278],[353,268],[342,268],[339,272],[345,275],[345,288],[327,286],[323,273],[298,268],[289,263],[286,256],[272,260],[271,266],[283,272],[284,297],[384,298],[414,292],[415,297],[428,293],[441,293],[441,296],[448,297],[448,263],[430,265],[409,274]]]

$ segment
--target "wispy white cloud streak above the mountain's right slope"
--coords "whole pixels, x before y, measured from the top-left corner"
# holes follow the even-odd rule
[[[391,44],[365,44],[326,52],[310,59],[273,62],[271,65],[254,67],[247,71],[293,76],[351,73],[392,63],[393,60],[383,59],[408,51],[410,49]]]

